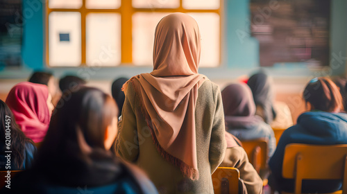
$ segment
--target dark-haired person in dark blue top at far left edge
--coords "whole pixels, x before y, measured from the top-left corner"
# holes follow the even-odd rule
[[[7,138],[7,134],[10,138]],[[10,158],[5,157],[10,152]],[[36,147],[18,127],[10,108],[0,100],[0,170],[24,170],[31,166]],[[6,166],[10,159],[10,166]]]

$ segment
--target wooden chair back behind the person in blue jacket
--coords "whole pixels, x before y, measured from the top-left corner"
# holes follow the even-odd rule
[[[347,193],[347,144],[309,145],[291,143],[285,148],[282,176],[295,179],[295,193],[301,193],[303,179],[343,179]]]

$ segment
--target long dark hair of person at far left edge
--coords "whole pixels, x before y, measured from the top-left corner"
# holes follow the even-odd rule
[[[7,121],[6,121],[7,120]],[[10,126],[10,131],[8,131],[8,127]],[[7,130],[7,131],[6,131]],[[26,143],[31,143],[34,145],[31,139],[28,139],[24,132],[20,130],[20,127],[17,125],[15,121],[15,117],[13,116],[10,108],[3,100],[0,100],[0,142],[2,149],[6,148],[6,132],[10,132],[10,150],[12,151],[11,161],[14,162],[14,167],[17,170],[21,170],[24,162],[24,152],[26,149]]]

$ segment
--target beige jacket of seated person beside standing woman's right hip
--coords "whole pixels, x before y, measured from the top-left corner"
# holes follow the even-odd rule
[[[235,141],[236,140],[236,141]],[[237,143],[238,139],[232,134],[226,132],[226,156],[219,167],[233,167],[239,169],[240,178],[248,193],[262,193],[262,178],[248,161],[248,156],[244,148]]]

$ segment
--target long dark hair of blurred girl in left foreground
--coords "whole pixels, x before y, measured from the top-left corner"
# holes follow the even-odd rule
[[[72,92],[51,118],[34,169],[68,186],[109,184],[118,169],[105,150],[105,129],[117,114],[115,100],[99,89]]]

